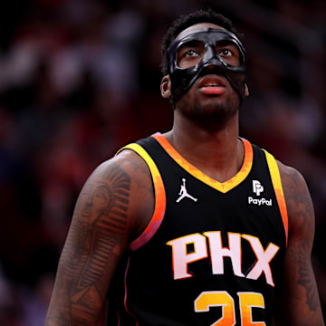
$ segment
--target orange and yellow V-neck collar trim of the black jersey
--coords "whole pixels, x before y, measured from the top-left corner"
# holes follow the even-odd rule
[[[183,158],[162,134],[157,132],[156,134],[152,135],[152,137],[158,140],[158,143],[168,152],[168,155],[173,158],[181,168],[184,168],[189,174],[191,174],[193,177],[197,177],[197,179],[201,180],[206,185],[213,187],[224,194],[244,181],[245,177],[248,176],[253,166],[253,147],[248,140],[241,139],[245,146],[245,159],[242,168],[235,175],[235,177],[231,177],[225,182],[218,182],[215,179],[208,177],[205,173],[195,168],[191,163]]]

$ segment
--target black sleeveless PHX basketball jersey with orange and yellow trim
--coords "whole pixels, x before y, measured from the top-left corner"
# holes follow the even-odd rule
[[[112,282],[108,325],[272,325],[286,206],[273,156],[241,140],[243,166],[224,183],[159,133],[123,148],[148,164],[155,211]]]

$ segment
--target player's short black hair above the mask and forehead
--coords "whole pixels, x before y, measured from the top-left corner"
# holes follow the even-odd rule
[[[235,34],[239,40],[242,40],[243,38],[243,35],[236,31],[235,26],[230,19],[226,18],[223,14],[217,14],[210,8],[205,10],[200,9],[192,14],[183,14],[171,24],[161,43],[161,72],[163,75],[168,74],[168,47],[170,44],[173,43],[177,35],[187,27],[200,23],[217,24],[225,28],[225,30]]]

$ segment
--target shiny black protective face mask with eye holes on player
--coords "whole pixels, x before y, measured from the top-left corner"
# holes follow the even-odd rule
[[[196,45],[194,45],[196,44]],[[228,62],[216,52],[216,48],[231,45],[237,51],[238,60]],[[202,58],[196,65],[180,68],[178,54],[183,48],[202,48]],[[189,32],[168,47],[168,72],[171,79],[172,101],[176,102],[185,94],[199,77],[206,74],[219,74],[226,78],[239,94],[245,98],[245,48],[235,34],[221,29],[206,28],[195,33]]]

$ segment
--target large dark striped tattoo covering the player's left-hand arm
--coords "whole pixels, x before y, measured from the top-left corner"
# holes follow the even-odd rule
[[[108,277],[105,271],[117,264],[128,227],[129,192],[130,177],[118,165],[91,178],[82,189],[56,280],[54,304],[57,310],[62,307],[64,316],[59,312],[53,312],[53,318],[49,315],[56,325],[71,325],[72,315],[79,325],[95,321],[106,297],[101,286]]]

